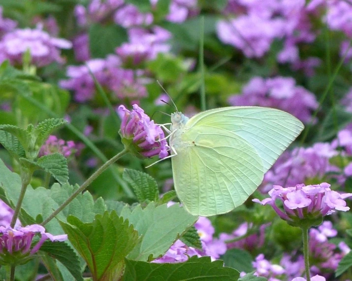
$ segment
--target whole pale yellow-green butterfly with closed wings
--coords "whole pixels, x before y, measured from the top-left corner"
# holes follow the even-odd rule
[[[303,128],[296,117],[272,108],[225,107],[192,118],[172,113],[169,146],[177,196],[192,215],[233,210]]]

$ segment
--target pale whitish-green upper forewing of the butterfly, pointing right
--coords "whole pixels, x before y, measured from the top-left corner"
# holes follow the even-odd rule
[[[208,125],[250,142],[263,162],[264,173],[302,132],[304,125],[287,112],[263,107],[225,107],[194,115],[186,130]]]

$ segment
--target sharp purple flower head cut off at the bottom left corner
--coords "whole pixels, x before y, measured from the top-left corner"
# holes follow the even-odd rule
[[[34,236],[40,236],[39,241],[32,245]],[[54,236],[45,232],[41,225],[27,225],[12,228],[0,226],[0,260],[1,264],[23,264],[28,257],[38,252],[45,240],[65,241],[67,235]]]

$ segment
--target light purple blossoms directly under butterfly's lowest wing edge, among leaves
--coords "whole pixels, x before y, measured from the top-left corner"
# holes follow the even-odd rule
[[[188,260],[190,256],[210,256],[212,260],[218,259],[221,254],[226,252],[226,245],[223,241],[213,238],[215,229],[210,220],[199,217],[194,224],[199,234],[202,250],[187,246],[181,240],[177,240],[169,250],[160,258],[155,259],[156,263],[175,263]]]

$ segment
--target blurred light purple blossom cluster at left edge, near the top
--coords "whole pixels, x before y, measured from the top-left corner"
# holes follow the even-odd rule
[[[60,49],[70,49],[71,42],[50,36],[41,29],[15,29],[6,33],[0,41],[0,60],[9,59],[13,64],[21,64],[22,57],[30,51],[32,63],[45,66],[51,62],[64,63]]]

